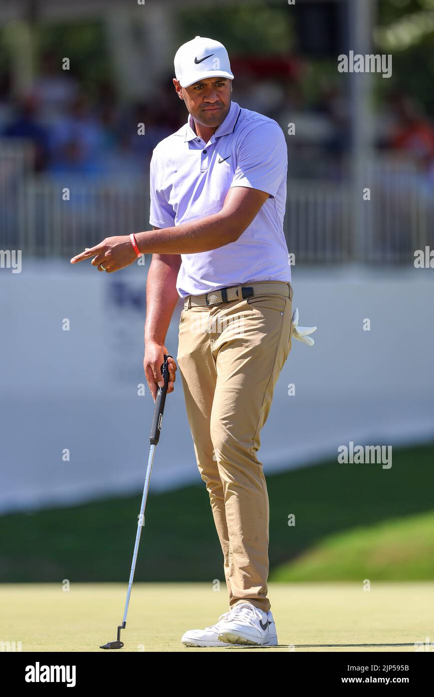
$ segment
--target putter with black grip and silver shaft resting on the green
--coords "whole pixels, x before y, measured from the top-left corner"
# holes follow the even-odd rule
[[[167,361],[168,358],[172,358],[172,356],[166,355],[164,353],[164,363],[162,364],[162,367],[161,367],[161,374],[162,374],[162,378],[164,380],[164,385],[161,388],[158,388],[157,397],[155,398],[154,418],[153,418],[153,422],[152,422],[152,427],[150,429],[150,438],[149,438],[149,440],[150,440],[150,452],[149,452],[149,458],[148,458],[148,466],[146,467],[144,493],[143,493],[143,496],[141,498],[139,522],[137,523],[136,544],[134,544],[134,552],[132,554],[130,581],[128,583],[127,599],[125,602],[125,611],[123,613],[123,620],[122,620],[122,624],[118,625],[118,638],[116,639],[116,641],[109,641],[109,643],[103,644],[102,646],[100,646],[101,649],[121,649],[123,647],[123,641],[121,641],[121,629],[125,629],[125,627],[127,625],[128,604],[130,603],[132,581],[134,579],[134,571],[136,570],[136,560],[137,560],[137,552],[139,551],[141,528],[144,527],[144,513],[145,513],[145,507],[146,507],[146,499],[148,498],[150,473],[152,471],[155,446],[157,445],[158,441],[160,440],[160,432],[161,432],[162,421],[163,421],[163,412],[164,412],[164,403],[166,401],[167,384],[169,383],[169,363]]]

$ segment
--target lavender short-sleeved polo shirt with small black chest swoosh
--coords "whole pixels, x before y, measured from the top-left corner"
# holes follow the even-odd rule
[[[288,151],[268,116],[231,102],[208,143],[187,123],[164,138],[150,161],[150,225],[165,228],[218,213],[231,187],[268,192],[258,215],[235,242],[181,254],[178,294],[199,295],[252,281],[290,282],[284,236]]]

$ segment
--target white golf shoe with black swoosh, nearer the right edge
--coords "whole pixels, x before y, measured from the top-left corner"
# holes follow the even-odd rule
[[[238,603],[219,622],[219,641],[230,644],[277,646],[276,625],[271,611],[263,612],[249,602]]]

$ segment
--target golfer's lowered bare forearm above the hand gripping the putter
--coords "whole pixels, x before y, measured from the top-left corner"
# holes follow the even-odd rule
[[[155,234],[155,231],[154,231]],[[145,343],[164,344],[179,295],[176,290],[178,268],[153,258],[146,281]]]

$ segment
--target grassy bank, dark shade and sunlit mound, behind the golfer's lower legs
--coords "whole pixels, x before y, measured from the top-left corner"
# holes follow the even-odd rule
[[[433,579],[433,464],[430,444],[394,449],[389,470],[334,461],[268,475],[270,579]],[[125,583],[140,500],[1,516],[0,581]],[[205,485],[151,493],[136,579],[222,578]]]

